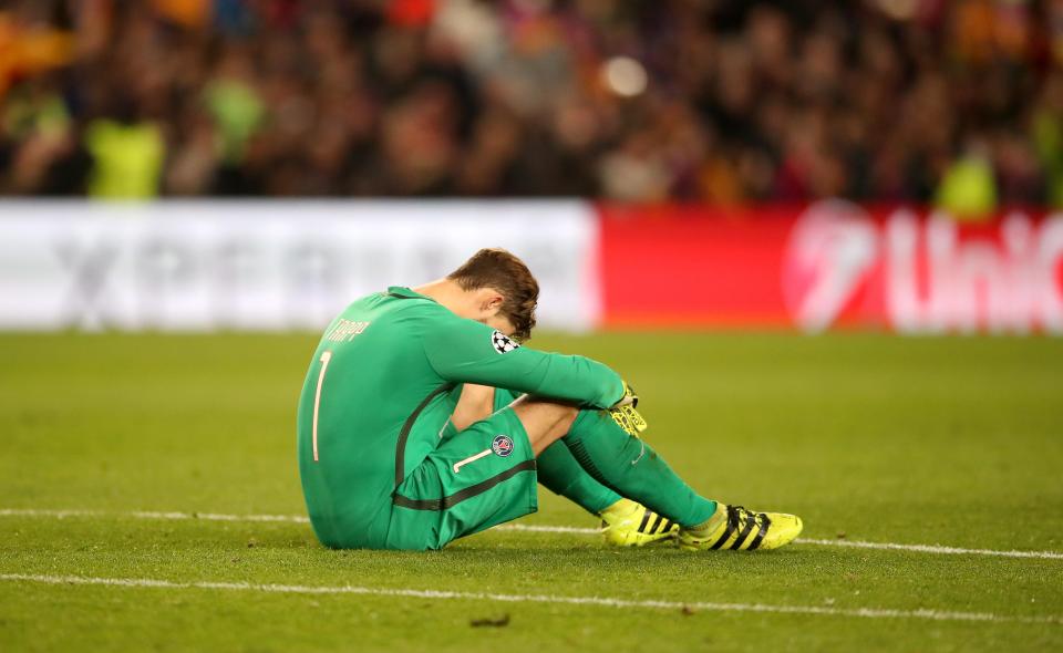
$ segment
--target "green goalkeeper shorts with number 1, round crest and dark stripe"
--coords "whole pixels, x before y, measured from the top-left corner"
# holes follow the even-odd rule
[[[451,541],[538,509],[535,454],[513,408],[465,431],[450,428],[440,446],[399,486],[389,549],[442,549]]]

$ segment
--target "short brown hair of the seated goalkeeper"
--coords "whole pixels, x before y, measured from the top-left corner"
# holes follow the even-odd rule
[[[500,248],[482,249],[446,276],[464,290],[494,288],[502,293],[499,312],[513,323],[516,340],[527,340],[535,328],[539,282],[524,261]]]

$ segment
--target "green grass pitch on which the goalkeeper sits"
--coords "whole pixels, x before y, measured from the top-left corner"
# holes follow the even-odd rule
[[[0,336],[0,650],[1063,649],[1059,557],[832,543],[1063,552],[1063,340],[536,339],[630,379],[704,494],[797,512],[819,540],[774,552],[518,530],[329,551],[306,524],[136,514],[301,515],[314,342]],[[53,512],[71,509],[89,512]],[[522,524],[596,525],[547,491]],[[347,585],[375,593],[323,593]]]

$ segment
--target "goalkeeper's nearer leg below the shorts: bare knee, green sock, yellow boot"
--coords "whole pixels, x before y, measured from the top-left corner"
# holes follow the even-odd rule
[[[706,499],[688,486],[644,440],[620,428],[602,411],[577,411],[535,397],[513,404],[536,450],[565,431],[564,444],[592,477],[618,494],[682,526],[680,545],[689,549],[770,549],[801,532],[792,515],[753,512]]]

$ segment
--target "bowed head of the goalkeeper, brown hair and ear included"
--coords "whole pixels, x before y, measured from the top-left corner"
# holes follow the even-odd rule
[[[476,314],[464,317],[516,340],[532,335],[539,283],[524,261],[504,249],[482,249],[446,278],[475,294]]]

